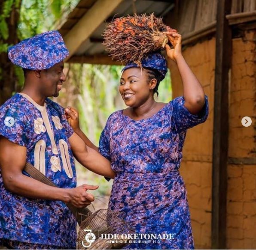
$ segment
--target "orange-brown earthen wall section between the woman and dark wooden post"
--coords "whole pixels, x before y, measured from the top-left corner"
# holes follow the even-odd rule
[[[208,96],[210,113],[207,121],[186,134],[181,175],[186,183],[192,231],[196,248],[211,245],[211,188],[215,39],[210,39],[183,51],[187,63],[198,77]],[[173,98],[182,95],[182,82],[175,63],[169,61]]]

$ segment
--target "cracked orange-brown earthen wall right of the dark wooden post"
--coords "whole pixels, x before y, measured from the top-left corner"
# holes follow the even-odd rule
[[[253,31],[233,39],[229,100],[229,157],[256,158],[256,80]],[[250,127],[244,116],[254,117]],[[227,248],[256,249],[256,165],[229,165],[227,192]]]

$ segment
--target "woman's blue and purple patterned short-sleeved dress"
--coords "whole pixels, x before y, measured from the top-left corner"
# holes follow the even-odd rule
[[[187,129],[207,116],[207,97],[198,115],[189,113],[184,98],[178,97],[148,119],[135,121],[119,110],[107,120],[99,151],[116,172],[109,210],[120,212],[137,233],[174,234],[172,240],[131,243],[125,248],[194,248],[179,168]]]

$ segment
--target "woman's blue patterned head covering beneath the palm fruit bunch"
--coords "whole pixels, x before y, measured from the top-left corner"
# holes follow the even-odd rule
[[[165,79],[165,75],[167,73],[167,63],[165,57],[162,54],[158,52],[149,54],[148,56],[143,58],[143,60],[141,61],[141,66],[142,68],[152,68],[157,70],[161,75],[160,81]],[[125,69],[133,67],[140,66],[137,65],[137,63],[135,62],[128,62],[122,69],[122,71],[125,71]]]

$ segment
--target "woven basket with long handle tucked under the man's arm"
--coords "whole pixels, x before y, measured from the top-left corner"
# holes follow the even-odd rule
[[[24,171],[32,178],[56,187],[50,179],[28,162],[25,164]],[[122,219],[125,218],[125,214],[115,213],[107,209],[100,209],[91,213],[88,208],[76,208],[70,203],[65,204],[70,208],[80,226],[77,238],[78,249],[120,249],[127,242],[121,241],[119,235],[134,233],[133,227]],[[100,239],[101,234],[116,234],[118,235],[118,242],[102,240]]]

